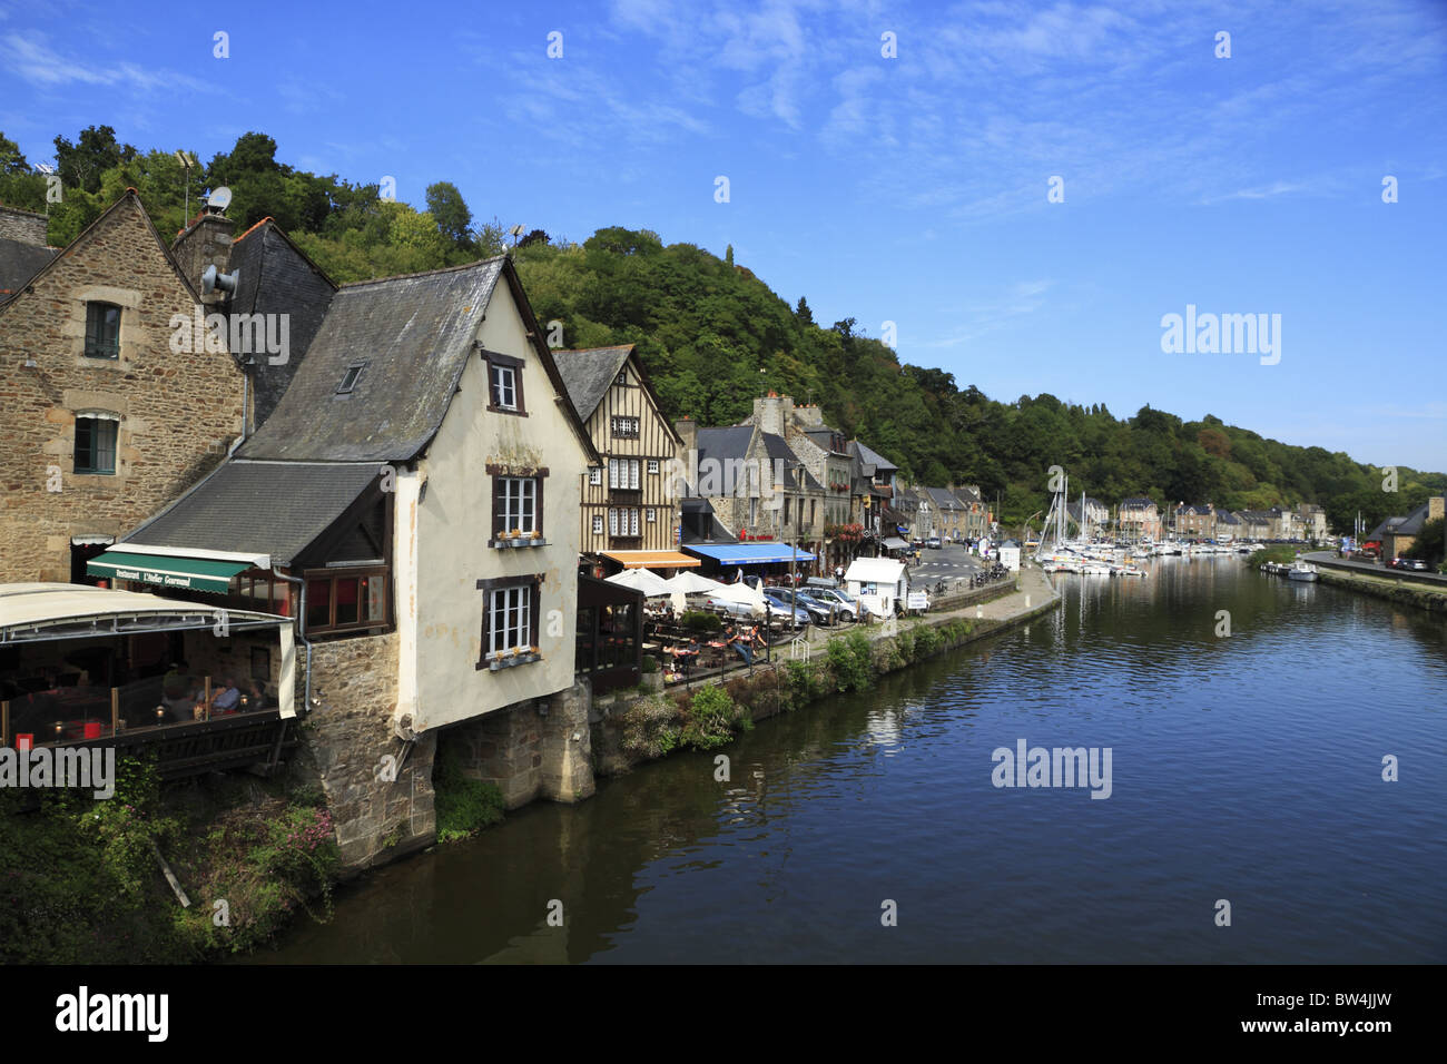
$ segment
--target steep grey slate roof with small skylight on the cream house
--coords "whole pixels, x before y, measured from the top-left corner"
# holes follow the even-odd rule
[[[343,287],[240,457],[407,462],[443,423],[504,259]],[[337,385],[368,362],[356,387]],[[540,401],[537,397],[531,401]]]

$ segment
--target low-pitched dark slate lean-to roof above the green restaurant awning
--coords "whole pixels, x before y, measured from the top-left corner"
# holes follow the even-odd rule
[[[233,459],[122,541],[271,554],[273,565],[287,566],[376,482],[382,468]]]

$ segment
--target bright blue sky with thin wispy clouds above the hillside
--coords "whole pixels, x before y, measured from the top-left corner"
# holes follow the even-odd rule
[[[732,243],[998,400],[1447,469],[1443,0],[123,10],[0,0],[0,130],[32,161],[93,123],[204,159],[262,130],[414,204],[447,180],[554,236]],[[1281,314],[1279,363],[1162,352],[1187,304]]]

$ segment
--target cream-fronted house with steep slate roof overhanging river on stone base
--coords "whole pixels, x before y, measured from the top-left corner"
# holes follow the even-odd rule
[[[560,740],[530,718],[577,724],[576,515],[599,465],[541,334],[505,256],[344,285],[266,423],[116,547],[230,559],[229,596],[297,618],[350,864],[430,841],[443,730],[509,805],[590,788],[566,743],[535,767]],[[383,757],[405,773],[376,777]]]

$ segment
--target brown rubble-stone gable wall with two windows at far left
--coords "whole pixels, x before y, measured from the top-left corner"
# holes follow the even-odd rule
[[[122,308],[116,359],[82,353],[91,300]],[[171,350],[172,314],[192,311],[132,193],[0,307],[0,582],[68,582],[72,536],[124,536],[226,456],[242,371],[224,352]],[[120,418],[114,473],[75,472],[91,410]]]

